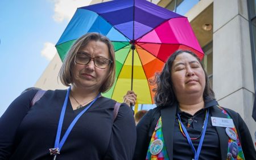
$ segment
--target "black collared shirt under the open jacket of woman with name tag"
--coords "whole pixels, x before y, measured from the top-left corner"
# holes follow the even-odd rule
[[[180,111],[179,107],[177,107],[177,113],[180,114],[181,122],[184,124],[185,128],[188,131],[188,135],[191,138],[197,138],[196,140],[192,140],[193,146],[197,150],[199,146],[199,141],[201,139],[201,132],[204,125],[205,119],[205,111],[212,107],[209,103],[205,103],[205,108],[197,111],[194,115],[185,113]],[[188,127],[188,119],[192,119],[193,122],[191,126]],[[179,122],[177,118],[175,119],[174,124],[174,159],[192,159],[194,154],[192,152],[191,146],[188,144],[188,140],[184,137],[179,128]],[[199,159],[218,159],[220,157],[220,148],[218,142],[217,131],[214,126],[212,126],[212,122],[210,119],[210,114],[208,117],[207,130],[205,132],[205,137],[203,141],[203,146],[200,152]]]

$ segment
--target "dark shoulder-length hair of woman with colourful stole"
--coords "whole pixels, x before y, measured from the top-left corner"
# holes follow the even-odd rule
[[[172,105],[175,102],[177,102],[177,98],[174,92],[173,83],[171,79],[171,68],[172,63],[174,63],[174,60],[176,59],[177,55],[181,53],[187,53],[193,55],[198,62],[201,64],[201,67],[204,70],[205,74],[205,88],[203,93],[204,101],[207,100],[214,100],[214,92],[210,88],[209,79],[207,76],[207,72],[204,69],[203,64],[201,63],[200,59],[197,57],[195,53],[189,50],[177,50],[175,53],[173,53],[164,64],[163,70],[160,73],[156,73],[154,83],[156,83],[157,87],[155,89],[155,103],[157,106],[167,106]]]

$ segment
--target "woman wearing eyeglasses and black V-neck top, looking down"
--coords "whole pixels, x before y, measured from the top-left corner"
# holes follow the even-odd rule
[[[47,90],[34,105],[38,90],[29,90],[2,115],[0,159],[132,159],[133,112],[101,96],[115,79],[110,40],[98,33],[80,37],[59,77],[67,90]]]

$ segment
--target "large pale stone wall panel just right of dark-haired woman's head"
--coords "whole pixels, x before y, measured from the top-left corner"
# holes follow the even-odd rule
[[[213,34],[213,90],[217,100],[242,88],[239,16]]]

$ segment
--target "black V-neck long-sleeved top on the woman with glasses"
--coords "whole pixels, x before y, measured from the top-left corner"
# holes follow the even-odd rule
[[[30,108],[37,90],[20,95],[0,118],[0,159],[52,159],[57,125],[67,90],[48,90]],[[57,159],[132,159],[136,131],[133,113],[122,103],[113,123],[115,101],[100,97],[77,121]],[[84,107],[68,101],[60,139]]]

